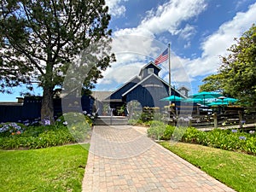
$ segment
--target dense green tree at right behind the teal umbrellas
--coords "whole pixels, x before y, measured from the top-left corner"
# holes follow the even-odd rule
[[[222,56],[217,74],[203,79],[201,90],[223,90],[248,105],[256,105],[256,26],[253,25],[236,44],[230,46],[230,55]]]

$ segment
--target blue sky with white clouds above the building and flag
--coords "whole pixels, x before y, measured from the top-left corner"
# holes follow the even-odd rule
[[[255,0],[106,0],[112,15],[113,52],[117,61],[103,73],[96,90],[115,90],[137,75],[171,44],[172,85],[198,91],[201,79],[216,73],[219,55],[256,23]],[[168,62],[160,64],[168,81]],[[0,95],[0,101],[15,101]],[[41,90],[35,90],[39,95]]]

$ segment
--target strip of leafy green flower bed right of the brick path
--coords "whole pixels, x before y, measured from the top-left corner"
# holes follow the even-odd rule
[[[213,148],[222,148],[230,151],[241,151],[247,154],[256,154],[256,134],[255,131],[242,132],[239,130],[199,131],[194,127],[177,128],[171,125],[160,125],[148,128],[148,137],[154,139],[170,140],[177,135],[183,135],[181,142],[201,144]],[[160,128],[160,126],[162,128]],[[163,129],[163,126],[165,127]],[[173,132],[175,130],[175,136]],[[180,134],[179,134],[180,131]]]

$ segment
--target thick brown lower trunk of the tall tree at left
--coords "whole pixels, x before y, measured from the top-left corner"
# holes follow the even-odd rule
[[[53,89],[44,87],[42,107],[41,107],[41,121],[49,119],[50,124],[53,124],[54,119],[54,104],[53,104]]]

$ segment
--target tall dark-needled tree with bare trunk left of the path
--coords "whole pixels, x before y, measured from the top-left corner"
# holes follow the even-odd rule
[[[114,60],[108,51],[110,15],[104,0],[2,0],[0,6],[1,91],[21,84],[32,89],[38,83],[43,88],[42,119],[53,119],[55,86],[63,84],[81,52],[94,58],[82,82],[86,88]],[[96,46],[88,49],[91,45]],[[83,65],[89,64],[79,67]]]

